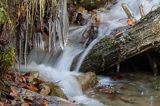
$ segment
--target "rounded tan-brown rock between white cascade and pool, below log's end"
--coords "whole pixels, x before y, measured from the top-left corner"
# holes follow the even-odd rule
[[[79,76],[76,76],[76,78],[83,91],[93,88],[97,83],[96,74],[94,72],[83,73]]]

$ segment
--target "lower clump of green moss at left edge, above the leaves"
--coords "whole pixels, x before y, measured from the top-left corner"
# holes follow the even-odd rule
[[[0,69],[1,70],[8,70],[12,64],[14,63],[14,49],[13,47],[11,47],[8,52],[2,52],[0,53],[0,61],[1,61],[1,65],[0,65]]]

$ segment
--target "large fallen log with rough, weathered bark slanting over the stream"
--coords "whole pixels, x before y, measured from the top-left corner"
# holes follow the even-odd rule
[[[92,48],[80,70],[106,70],[126,59],[159,46],[160,8],[147,14],[133,27],[118,28],[102,39]]]

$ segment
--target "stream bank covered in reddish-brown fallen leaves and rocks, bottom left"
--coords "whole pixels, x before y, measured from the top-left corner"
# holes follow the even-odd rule
[[[39,74],[36,72],[10,71],[4,77],[3,83],[0,106],[48,106],[49,104],[57,106],[58,100],[64,104],[75,106],[66,99],[52,96],[53,86],[49,84],[50,82],[39,78]]]

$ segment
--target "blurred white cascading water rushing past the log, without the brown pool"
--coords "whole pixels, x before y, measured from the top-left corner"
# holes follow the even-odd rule
[[[30,59],[30,61],[32,60],[33,62],[31,62],[27,67],[21,66],[21,69],[23,69],[23,71],[38,71],[40,73],[40,76],[45,80],[58,82],[57,84],[62,88],[62,90],[70,100],[76,100],[77,103],[82,103],[86,106],[103,106],[102,103],[94,99],[90,99],[83,94],[79,83],[75,79],[75,76],[80,74],[78,73],[78,71],[90,49],[92,49],[92,47],[105,35],[109,35],[112,30],[120,26],[125,26],[127,24],[127,16],[121,8],[122,3],[127,3],[132,10],[135,18],[139,20],[140,13],[138,6],[142,3],[146,14],[151,10],[153,5],[159,4],[159,0],[120,0],[111,8],[110,11],[98,12],[101,23],[99,26],[98,37],[86,49],[84,48],[84,42],[86,39],[84,39],[82,35],[88,30],[89,24],[80,27],[70,27],[66,45],[64,44],[64,42],[62,42],[65,29],[63,29],[63,31],[59,30],[63,33],[59,35],[59,40],[61,41],[60,45],[63,50],[61,53],[57,52],[58,55],[56,55],[56,61],[54,61],[53,64],[50,65],[48,65],[46,62],[36,64],[34,63],[34,61],[36,61],[36,59],[39,60],[40,57],[35,57],[33,59]],[[65,18],[63,18],[62,20],[63,23],[65,23]],[[73,59],[82,52],[83,54],[80,57],[78,65],[75,69],[76,72],[70,72],[70,67]]]

